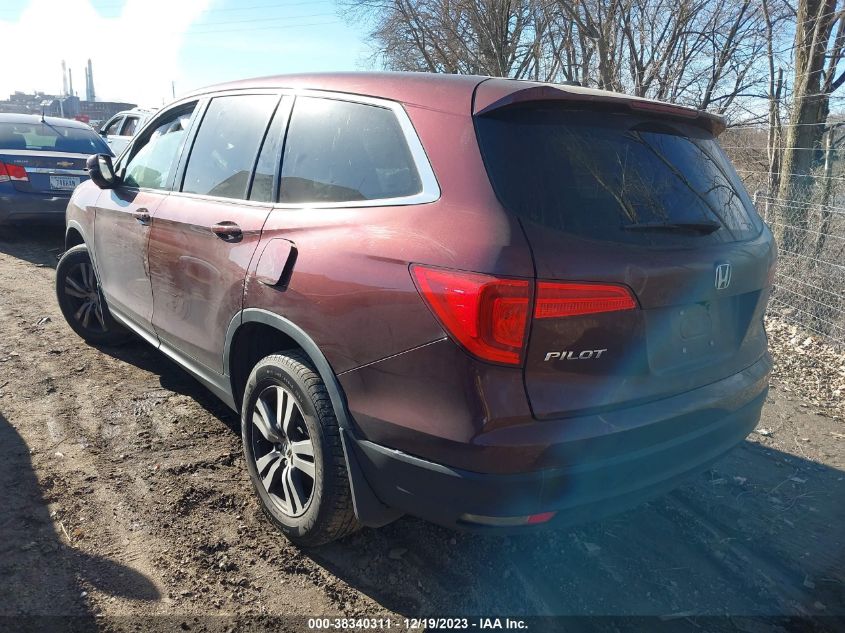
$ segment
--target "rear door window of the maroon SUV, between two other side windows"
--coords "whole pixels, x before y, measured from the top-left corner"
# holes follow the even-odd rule
[[[217,97],[197,132],[182,191],[222,198],[246,198],[258,148],[277,95]]]

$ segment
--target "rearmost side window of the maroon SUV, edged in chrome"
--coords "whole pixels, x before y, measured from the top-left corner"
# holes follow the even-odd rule
[[[297,97],[282,158],[281,202],[400,198],[421,190],[392,110]]]

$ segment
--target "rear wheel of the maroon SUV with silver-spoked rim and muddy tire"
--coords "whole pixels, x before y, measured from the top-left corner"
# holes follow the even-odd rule
[[[305,355],[274,354],[253,368],[241,438],[261,509],[288,539],[323,545],[358,528],[337,418]]]

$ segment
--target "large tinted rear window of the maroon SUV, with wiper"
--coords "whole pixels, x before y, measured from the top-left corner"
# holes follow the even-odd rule
[[[736,241],[760,231],[729,160],[695,126],[532,105],[478,117],[476,130],[502,204],[540,225],[635,243]],[[718,226],[660,230],[673,224]]]

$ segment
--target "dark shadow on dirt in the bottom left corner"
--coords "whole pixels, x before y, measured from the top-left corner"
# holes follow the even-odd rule
[[[143,574],[68,545],[57,533],[47,504],[60,482],[39,484],[30,452],[0,414],[0,629],[91,630],[96,628],[83,582],[107,595],[154,601],[155,585]],[[42,497],[42,489],[45,497]],[[5,630],[5,629],[4,629]]]

